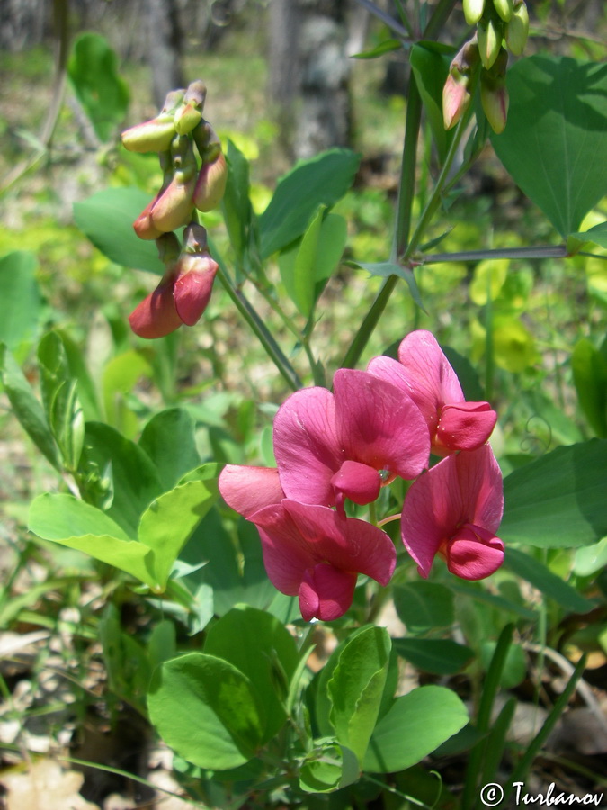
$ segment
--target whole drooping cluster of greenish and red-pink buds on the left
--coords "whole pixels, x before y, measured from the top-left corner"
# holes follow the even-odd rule
[[[156,118],[122,133],[130,151],[158,152],[164,175],[160,191],[133,223],[139,238],[156,239],[166,268],[156,290],[130,314],[131,329],[141,338],[162,338],[182,324],[196,323],[219,269],[210,257],[206,230],[192,220],[194,208],[217,208],[228,176],[219,138],[202,118],[206,94],[200,81],[174,90]],[[180,246],[174,230],[183,226]]]

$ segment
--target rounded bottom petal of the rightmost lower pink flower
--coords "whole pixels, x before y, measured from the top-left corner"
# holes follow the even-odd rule
[[[447,567],[463,580],[484,580],[504,562],[504,543],[478,526],[460,528],[447,544]]]

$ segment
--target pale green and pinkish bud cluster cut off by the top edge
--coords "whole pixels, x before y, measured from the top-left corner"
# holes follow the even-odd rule
[[[466,22],[476,25],[477,31],[451,62],[442,92],[445,129],[455,126],[468,109],[479,76],[483,112],[499,133],[508,114],[506,48],[514,56],[522,54],[529,33],[527,6],[524,0],[463,0],[463,11]]]

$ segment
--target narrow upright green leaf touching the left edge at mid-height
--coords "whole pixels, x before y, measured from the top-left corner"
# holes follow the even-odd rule
[[[61,469],[57,444],[49,428],[49,422],[36,399],[21,368],[4,344],[0,344],[0,376],[4,391],[11,403],[14,415],[19,419],[23,430],[31,438],[56,470]]]

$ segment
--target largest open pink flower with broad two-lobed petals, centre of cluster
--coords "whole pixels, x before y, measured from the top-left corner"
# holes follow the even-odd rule
[[[367,504],[382,483],[415,478],[429,458],[424,417],[385,380],[340,369],[334,392],[306,388],[285,401],[274,419],[274,455],[282,490],[303,503]]]

